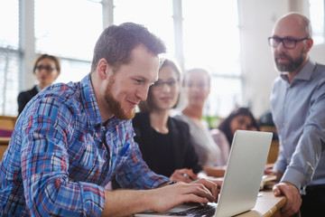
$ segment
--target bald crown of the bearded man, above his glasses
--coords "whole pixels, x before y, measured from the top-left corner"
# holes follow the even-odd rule
[[[275,24],[273,34],[279,37],[311,37],[311,21],[299,13],[285,14]]]

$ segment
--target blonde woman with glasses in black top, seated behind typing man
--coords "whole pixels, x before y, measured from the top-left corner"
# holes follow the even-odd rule
[[[181,92],[181,71],[174,61],[165,60],[148,98],[139,104],[133,119],[135,142],[153,172],[172,181],[190,183],[202,171],[190,137],[189,126],[171,117]]]

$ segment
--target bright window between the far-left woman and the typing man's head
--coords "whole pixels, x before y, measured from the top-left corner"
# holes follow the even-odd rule
[[[90,71],[102,31],[102,5],[98,2],[35,0],[36,52],[60,57],[56,82],[78,81]]]

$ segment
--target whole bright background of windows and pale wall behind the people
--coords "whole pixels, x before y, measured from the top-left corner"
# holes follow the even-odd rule
[[[186,71],[212,73],[204,115],[225,118],[238,106],[255,118],[269,110],[274,70],[267,37],[283,14],[311,19],[311,58],[325,63],[325,0],[1,0],[0,115],[17,116],[17,95],[35,84],[40,53],[60,57],[56,82],[81,80],[109,24],[144,24]]]

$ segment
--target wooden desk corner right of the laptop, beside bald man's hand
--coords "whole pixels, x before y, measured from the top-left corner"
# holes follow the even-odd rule
[[[286,203],[284,196],[275,197],[272,191],[260,192],[255,208],[251,211],[236,215],[237,217],[280,217],[280,209]]]

